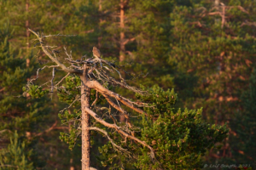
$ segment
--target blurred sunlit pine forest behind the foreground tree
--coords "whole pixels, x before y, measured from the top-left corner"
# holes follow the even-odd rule
[[[57,116],[65,104],[55,94],[22,95],[48,62],[28,44],[28,27],[77,35],[48,40],[75,59],[96,46],[103,58],[131,63],[130,71],[148,73],[130,82],[137,87],[175,88],[177,107],[203,107],[206,122],[230,127],[221,150],[209,150],[205,162],[255,167],[254,0],[1,0],[0,11],[0,164],[11,165],[0,169],[81,168],[79,147],[68,150],[59,139],[69,129]],[[40,77],[38,84],[49,81],[44,71]],[[103,168],[96,161],[102,142],[94,142],[93,167]]]

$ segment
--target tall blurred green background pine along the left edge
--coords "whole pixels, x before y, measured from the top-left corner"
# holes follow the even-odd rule
[[[9,144],[9,137],[17,131],[20,142],[25,143],[32,152],[31,161],[35,167],[44,167],[45,162],[36,156],[38,153],[39,133],[44,131],[44,121],[49,113],[45,105],[46,98],[32,99],[29,94],[22,94],[22,87],[35,71],[36,59],[33,54],[23,55],[19,50],[12,48],[9,39],[13,29],[9,24],[0,29],[0,131],[1,148]],[[30,66],[26,66],[26,59],[30,59]],[[11,144],[9,147],[18,147]],[[23,146],[22,146],[23,147]],[[26,149],[28,150],[28,149]],[[25,154],[26,155],[26,154]],[[6,160],[4,161],[12,161]],[[25,159],[25,158],[24,158]],[[17,160],[18,161],[18,160]]]

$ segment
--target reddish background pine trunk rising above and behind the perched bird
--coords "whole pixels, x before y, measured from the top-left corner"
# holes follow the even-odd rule
[[[120,0],[120,51],[119,61],[125,60],[125,4],[124,0]]]

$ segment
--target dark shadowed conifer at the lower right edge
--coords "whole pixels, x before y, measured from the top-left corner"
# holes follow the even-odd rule
[[[232,157],[230,163],[239,163],[243,167],[255,168],[255,99],[256,99],[256,70],[250,77],[250,84],[246,91],[241,94],[242,110],[236,111],[230,127],[234,131],[230,134]]]

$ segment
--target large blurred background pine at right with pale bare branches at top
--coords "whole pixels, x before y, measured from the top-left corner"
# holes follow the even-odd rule
[[[253,7],[254,1],[200,1],[177,6],[171,14],[169,62],[195,82],[192,86],[177,77],[177,91],[184,93],[184,105],[203,107],[203,117],[211,123],[231,122],[236,111],[242,111],[241,94],[255,63]],[[188,89],[190,95],[185,95]],[[233,131],[234,126],[230,133]],[[236,159],[233,143],[236,141],[225,139],[223,148],[211,150],[207,161]]]

